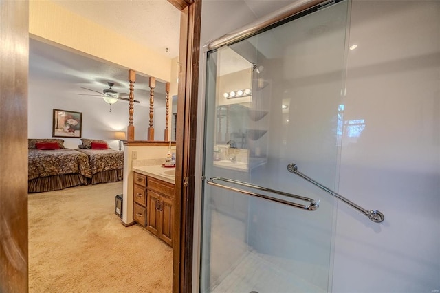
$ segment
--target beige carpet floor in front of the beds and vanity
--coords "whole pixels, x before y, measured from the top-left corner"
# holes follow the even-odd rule
[[[114,213],[122,182],[29,195],[30,292],[171,292],[173,250]]]

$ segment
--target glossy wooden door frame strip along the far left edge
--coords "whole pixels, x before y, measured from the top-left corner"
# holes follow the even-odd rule
[[[0,1],[0,292],[28,292],[28,1]]]

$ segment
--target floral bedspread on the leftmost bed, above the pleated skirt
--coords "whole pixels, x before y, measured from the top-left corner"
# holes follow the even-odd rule
[[[52,175],[80,174],[91,177],[87,155],[73,149],[29,149],[28,180]]]

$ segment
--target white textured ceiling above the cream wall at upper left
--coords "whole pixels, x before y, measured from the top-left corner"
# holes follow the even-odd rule
[[[179,55],[180,12],[166,0],[56,0],[54,3],[169,58]]]

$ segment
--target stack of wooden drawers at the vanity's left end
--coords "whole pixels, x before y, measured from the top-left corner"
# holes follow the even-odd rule
[[[133,219],[146,227],[146,176],[134,173],[133,184]]]

